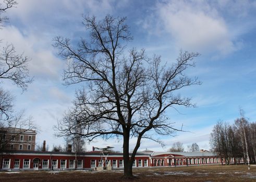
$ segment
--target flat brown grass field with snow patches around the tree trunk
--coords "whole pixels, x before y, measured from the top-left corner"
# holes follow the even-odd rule
[[[123,171],[38,171],[0,172],[0,181],[122,181]],[[189,167],[138,168],[135,181],[256,181],[256,166],[248,171],[245,165],[206,165]]]

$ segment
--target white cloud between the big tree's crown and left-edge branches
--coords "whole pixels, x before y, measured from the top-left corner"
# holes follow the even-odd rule
[[[5,27],[0,31],[2,42],[14,44],[18,54],[24,53],[31,59],[29,62],[31,75],[36,79],[60,79],[64,62],[53,55],[51,41],[34,34],[25,36],[13,26]],[[3,45],[4,43],[2,43]]]

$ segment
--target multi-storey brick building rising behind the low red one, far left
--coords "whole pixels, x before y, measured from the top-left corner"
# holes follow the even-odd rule
[[[22,128],[0,128],[1,149],[2,150],[35,150],[36,132]]]

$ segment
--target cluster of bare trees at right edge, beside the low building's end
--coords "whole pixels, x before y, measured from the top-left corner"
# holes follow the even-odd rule
[[[243,157],[244,161],[255,163],[256,160],[256,123],[249,123],[248,119],[241,114],[235,123],[218,121],[213,127],[210,144],[212,150],[221,155],[226,164],[234,157]],[[248,159],[247,159],[248,157]]]

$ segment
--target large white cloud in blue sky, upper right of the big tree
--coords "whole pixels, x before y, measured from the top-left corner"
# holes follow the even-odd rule
[[[237,49],[225,20],[206,3],[159,3],[157,15],[178,48],[222,54]]]

